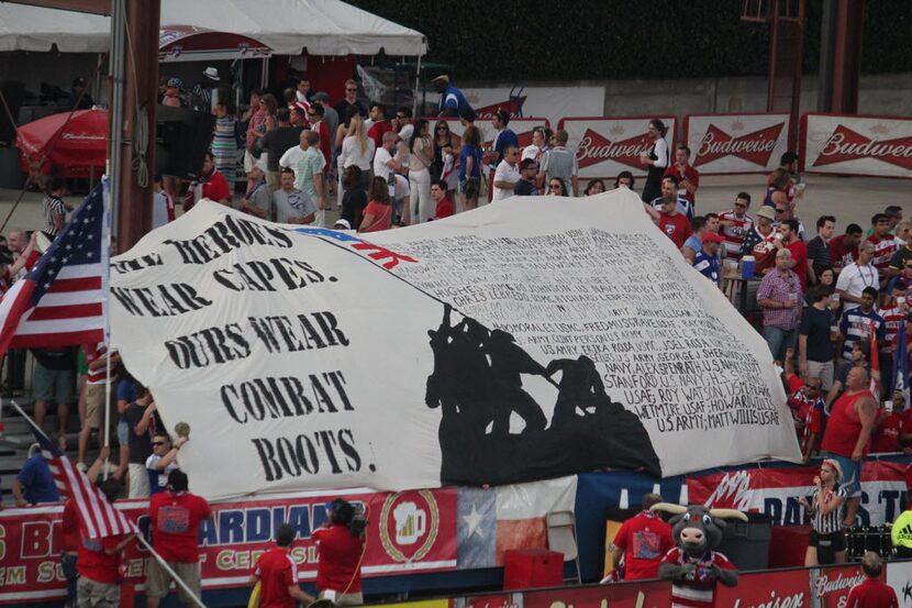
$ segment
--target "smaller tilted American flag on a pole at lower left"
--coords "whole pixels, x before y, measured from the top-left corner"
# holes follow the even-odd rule
[[[135,526],[126,519],[126,516],[108,502],[101,490],[89,480],[85,473],[73,465],[73,461],[54,445],[51,438],[18,405],[13,404],[13,407],[32,427],[35,441],[41,445],[42,456],[51,468],[57,488],[76,502],[76,510],[79,513],[79,532],[82,537],[102,539],[135,532]]]

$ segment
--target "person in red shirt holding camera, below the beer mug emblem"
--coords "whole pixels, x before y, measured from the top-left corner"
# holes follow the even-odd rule
[[[337,498],[332,504],[330,520],[314,530],[312,539],[320,551],[316,565],[316,588],[320,599],[336,606],[364,604],[362,594],[362,557],[366,521],[355,506]]]

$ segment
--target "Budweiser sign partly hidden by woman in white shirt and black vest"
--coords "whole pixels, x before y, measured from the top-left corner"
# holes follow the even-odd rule
[[[623,170],[644,177],[646,168],[639,163],[639,155],[653,146],[647,132],[654,118],[661,119],[668,128],[665,139],[674,161],[675,117],[566,118],[558,128],[569,135],[567,147],[577,151],[580,179],[614,179]]]

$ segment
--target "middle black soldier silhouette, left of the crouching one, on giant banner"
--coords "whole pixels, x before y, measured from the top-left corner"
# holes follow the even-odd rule
[[[543,431],[547,419],[535,399],[523,390],[522,374],[547,378],[545,368],[502,330],[491,332],[487,351],[491,357],[491,399],[494,401],[491,434],[501,438],[510,434],[510,414],[514,411],[525,422],[523,433]]]

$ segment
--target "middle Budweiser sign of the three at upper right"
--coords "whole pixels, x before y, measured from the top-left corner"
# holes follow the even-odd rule
[[[789,114],[691,114],[683,141],[702,175],[769,173],[788,152]]]

